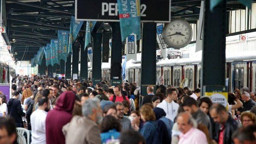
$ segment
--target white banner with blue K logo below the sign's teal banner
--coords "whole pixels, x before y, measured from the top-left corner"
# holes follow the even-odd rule
[[[137,38],[134,33],[126,38],[126,60],[131,59],[137,61]]]

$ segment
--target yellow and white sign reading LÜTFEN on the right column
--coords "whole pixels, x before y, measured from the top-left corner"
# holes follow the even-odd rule
[[[218,103],[228,108],[228,92],[205,92],[205,96],[209,96],[212,103]]]

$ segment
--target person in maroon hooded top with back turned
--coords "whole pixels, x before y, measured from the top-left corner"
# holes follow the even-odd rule
[[[46,143],[65,144],[62,127],[72,119],[72,110],[76,96],[73,92],[63,92],[54,110],[50,110],[46,116]]]

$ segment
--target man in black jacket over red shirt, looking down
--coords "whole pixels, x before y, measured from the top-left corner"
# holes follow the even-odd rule
[[[219,144],[234,144],[232,134],[238,129],[238,123],[227,112],[225,106],[213,104],[210,107],[210,115],[214,122],[220,124],[218,134],[214,140]]]

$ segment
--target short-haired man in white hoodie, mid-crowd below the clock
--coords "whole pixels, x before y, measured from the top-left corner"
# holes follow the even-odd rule
[[[178,94],[175,88],[168,88],[166,90],[166,95],[167,95],[166,99],[163,100],[156,107],[162,108],[166,113],[166,118],[172,120],[173,122],[179,109],[179,104],[174,102],[174,100],[177,100]]]

